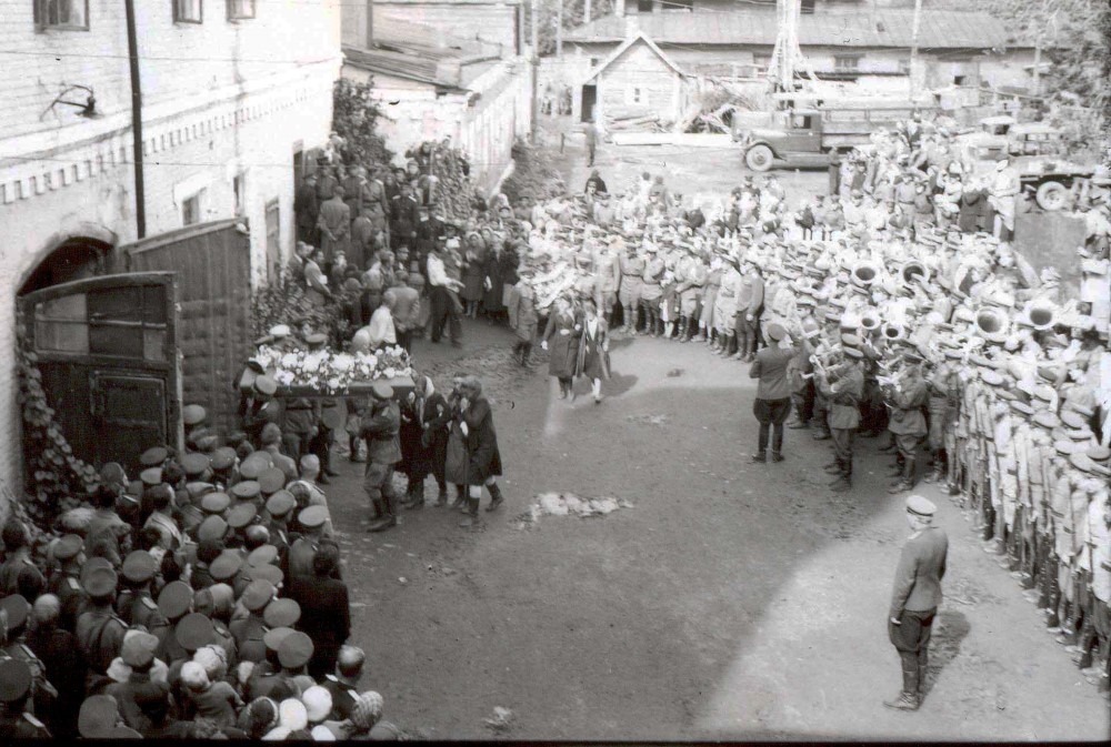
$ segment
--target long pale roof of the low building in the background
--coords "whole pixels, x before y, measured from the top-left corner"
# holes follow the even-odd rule
[[[914,11],[824,11],[799,19],[802,47],[910,48]],[[571,31],[570,42],[621,41],[625,19],[607,16]],[[637,28],[659,44],[767,44],[775,43],[777,13],[762,9],[692,13],[638,13]],[[922,49],[992,49],[1015,46],[1002,21],[988,13],[928,10],[922,13],[919,47]],[[1019,44],[1028,46],[1028,44]]]

